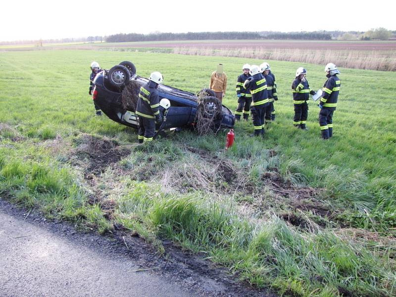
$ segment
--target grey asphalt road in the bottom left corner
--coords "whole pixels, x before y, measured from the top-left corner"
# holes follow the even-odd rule
[[[99,236],[64,236],[70,230],[43,227],[44,218],[29,222],[10,214],[4,203],[0,199],[1,297],[196,296],[174,280],[142,270]]]

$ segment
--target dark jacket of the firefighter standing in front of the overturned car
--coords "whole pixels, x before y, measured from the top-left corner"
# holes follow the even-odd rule
[[[140,88],[136,114],[145,118],[154,119],[159,114],[159,96],[157,84],[149,81]]]

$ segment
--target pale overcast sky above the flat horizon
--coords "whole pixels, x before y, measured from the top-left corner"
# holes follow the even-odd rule
[[[3,0],[0,41],[117,33],[396,30],[395,0]]]

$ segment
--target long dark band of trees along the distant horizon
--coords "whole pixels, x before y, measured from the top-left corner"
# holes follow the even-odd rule
[[[151,33],[115,34],[106,36],[106,42],[167,41],[167,40],[238,40],[238,39],[302,39],[331,40],[326,32],[188,32],[188,33]]]

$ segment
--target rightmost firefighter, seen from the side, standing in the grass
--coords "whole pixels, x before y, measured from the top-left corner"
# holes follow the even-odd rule
[[[338,94],[340,93],[341,81],[337,74],[340,74],[333,63],[328,63],[325,67],[327,81],[322,88],[322,98],[319,101],[319,125],[322,131],[322,138],[329,139],[333,136],[333,113],[336,110]]]

